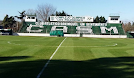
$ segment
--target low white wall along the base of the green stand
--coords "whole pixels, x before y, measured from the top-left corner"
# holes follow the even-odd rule
[[[50,37],[50,34],[45,33],[13,33],[15,36],[46,36]],[[52,36],[54,37],[54,36]],[[80,37],[80,34],[64,34],[64,37]],[[127,38],[127,35],[87,35],[83,34],[82,37],[93,38]]]

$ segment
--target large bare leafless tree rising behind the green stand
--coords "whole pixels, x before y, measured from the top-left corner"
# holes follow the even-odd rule
[[[49,16],[54,14],[55,11],[56,8],[50,4],[38,5],[36,10],[37,18],[43,22],[48,21]]]

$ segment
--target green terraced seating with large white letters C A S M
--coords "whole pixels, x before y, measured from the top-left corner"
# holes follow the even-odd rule
[[[36,26],[35,22],[24,22],[20,33],[50,33],[62,30],[64,34],[92,34],[92,35],[125,35],[122,24],[106,23],[106,26],[75,26],[71,25],[43,25]],[[31,26],[30,26],[31,25]]]

